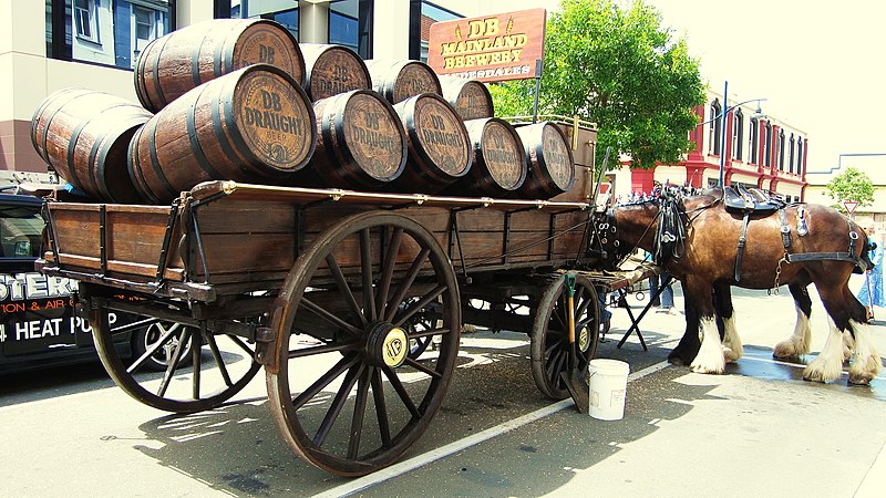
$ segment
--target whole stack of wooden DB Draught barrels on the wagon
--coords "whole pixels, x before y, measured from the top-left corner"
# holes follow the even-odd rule
[[[174,31],[142,51],[134,74],[141,105],[68,89],[31,121],[37,152],[87,197],[168,204],[231,179],[540,199],[575,179],[560,129],[494,117],[483,83],[299,44],[270,20]]]

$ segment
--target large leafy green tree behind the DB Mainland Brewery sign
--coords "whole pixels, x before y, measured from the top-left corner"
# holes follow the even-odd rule
[[[698,124],[693,107],[704,102],[698,61],[655,8],[619,3],[563,0],[550,14],[539,113],[597,123],[597,164],[607,146],[633,167],[677,163]],[[534,87],[533,80],[492,85],[496,114],[532,114]]]

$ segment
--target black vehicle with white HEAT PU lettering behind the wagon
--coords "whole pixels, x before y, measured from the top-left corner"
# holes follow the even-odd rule
[[[43,250],[43,200],[17,190],[0,188],[0,374],[96,361],[92,329],[72,305],[78,282],[34,271]],[[112,312],[109,320],[130,331],[117,343],[124,357],[141,356],[175,326],[127,313]],[[145,367],[165,370],[168,353],[157,351]]]

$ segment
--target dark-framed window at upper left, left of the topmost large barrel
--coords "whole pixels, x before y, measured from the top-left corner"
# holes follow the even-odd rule
[[[175,0],[45,0],[47,55],[132,69],[175,25]],[[101,35],[100,35],[101,34]]]

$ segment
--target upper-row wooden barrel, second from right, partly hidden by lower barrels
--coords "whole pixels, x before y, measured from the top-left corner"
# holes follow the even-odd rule
[[[424,62],[383,59],[371,59],[365,62],[372,75],[372,87],[391,104],[423,93],[442,94],[440,79]]]

